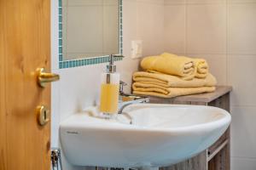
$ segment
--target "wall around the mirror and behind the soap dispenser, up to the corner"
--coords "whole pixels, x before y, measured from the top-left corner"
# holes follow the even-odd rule
[[[52,146],[59,144],[59,123],[67,116],[93,105],[99,98],[100,75],[106,64],[87,65],[58,69],[58,1],[51,0],[51,47],[52,71],[61,75],[59,82],[52,83]],[[131,40],[143,40],[143,55],[159,54],[163,51],[164,0],[124,0],[124,55],[117,62],[121,79],[131,84],[131,75],[137,71],[139,59],[131,59]],[[154,32],[154,34],[153,34]],[[131,86],[125,90],[130,91]],[[63,170],[80,170],[63,157]]]

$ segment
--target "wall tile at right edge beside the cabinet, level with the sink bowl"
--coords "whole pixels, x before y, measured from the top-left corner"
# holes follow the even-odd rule
[[[256,106],[231,107],[231,156],[256,158]]]

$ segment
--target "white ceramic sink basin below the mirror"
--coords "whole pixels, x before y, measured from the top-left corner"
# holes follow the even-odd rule
[[[199,105],[138,104],[124,113],[105,120],[83,112],[61,122],[67,161],[101,167],[172,165],[206,150],[231,121],[227,111]],[[132,124],[120,121],[126,117]]]

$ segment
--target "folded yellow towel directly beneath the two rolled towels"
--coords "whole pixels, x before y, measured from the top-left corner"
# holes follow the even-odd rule
[[[194,78],[186,81],[181,77],[166,75],[162,73],[149,73],[144,71],[137,71],[133,74],[134,82],[141,82],[143,84],[155,84],[164,88],[196,88],[196,87],[211,87],[217,84],[216,78],[212,74],[208,74],[205,79]]]

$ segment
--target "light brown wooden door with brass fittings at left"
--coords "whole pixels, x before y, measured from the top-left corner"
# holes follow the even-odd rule
[[[0,170],[50,169],[50,123],[35,113],[50,106],[35,75],[49,70],[49,23],[49,0],[0,0]]]

